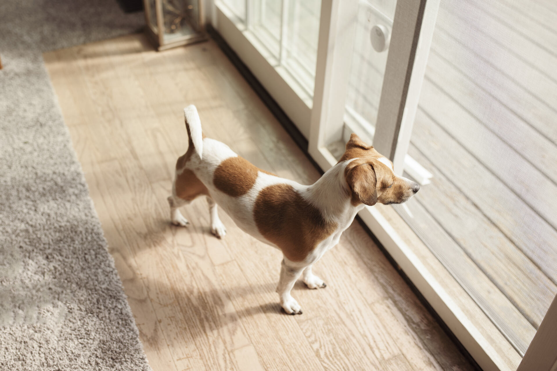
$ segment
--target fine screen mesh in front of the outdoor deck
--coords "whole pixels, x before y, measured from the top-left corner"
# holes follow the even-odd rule
[[[557,2],[442,0],[397,206],[524,355],[557,293]]]

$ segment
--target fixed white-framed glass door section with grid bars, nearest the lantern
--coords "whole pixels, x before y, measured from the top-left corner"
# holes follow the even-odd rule
[[[217,0],[216,29],[309,137],[321,1]]]

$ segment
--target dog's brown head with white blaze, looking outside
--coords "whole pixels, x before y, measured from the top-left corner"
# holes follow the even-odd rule
[[[344,177],[353,205],[402,204],[419,190],[416,182],[396,176],[393,163],[355,134],[340,159],[346,160],[352,160],[346,165]]]

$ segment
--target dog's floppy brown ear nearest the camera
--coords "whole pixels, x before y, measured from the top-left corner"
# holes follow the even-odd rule
[[[352,192],[352,204],[363,203],[369,206],[377,204],[377,177],[372,164],[364,162],[347,170],[346,182]]]

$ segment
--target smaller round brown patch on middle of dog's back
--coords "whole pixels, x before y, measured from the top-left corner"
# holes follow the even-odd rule
[[[257,172],[275,175],[261,170],[243,157],[229,157],[214,170],[213,184],[216,189],[228,196],[240,197],[245,195],[257,180]]]

